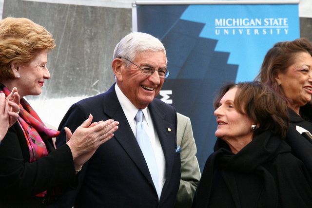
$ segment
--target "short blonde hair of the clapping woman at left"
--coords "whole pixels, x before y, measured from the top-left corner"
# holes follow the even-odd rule
[[[0,20],[0,81],[14,78],[11,63],[28,65],[40,52],[55,47],[53,36],[30,19]]]

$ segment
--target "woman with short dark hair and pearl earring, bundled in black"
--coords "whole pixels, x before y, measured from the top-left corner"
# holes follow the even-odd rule
[[[283,140],[286,102],[260,82],[228,84],[215,101],[217,141],[193,208],[312,207],[311,179]]]

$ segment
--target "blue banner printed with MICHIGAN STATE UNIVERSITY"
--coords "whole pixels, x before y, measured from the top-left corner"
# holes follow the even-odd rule
[[[203,170],[216,139],[215,93],[253,80],[274,43],[300,37],[298,4],[137,3],[134,11],[137,31],[164,43],[172,74],[158,98],[191,118]]]

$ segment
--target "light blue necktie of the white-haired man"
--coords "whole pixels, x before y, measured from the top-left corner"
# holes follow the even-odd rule
[[[144,130],[144,125],[143,125],[143,112],[141,110],[138,110],[137,115],[136,115],[136,121],[137,121],[137,143],[141,148],[141,151],[144,155],[145,161],[147,163],[148,169],[150,170],[157,195],[158,195],[158,200],[160,198],[160,193],[159,193],[159,185],[158,185],[158,168],[157,168],[157,163],[155,159],[155,154],[154,150],[150,141],[150,138],[148,137],[147,133]]]

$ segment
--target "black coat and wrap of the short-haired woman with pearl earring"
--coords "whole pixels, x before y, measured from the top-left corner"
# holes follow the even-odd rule
[[[271,132],[234,154],[217,139],[205,165],[193,208],[311,208],[311,178],[291,148]]]

